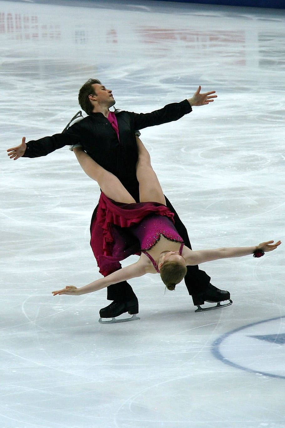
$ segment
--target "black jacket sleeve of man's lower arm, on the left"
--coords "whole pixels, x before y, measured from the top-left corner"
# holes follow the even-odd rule
[[[64,146],[72,146],[80,142],[79,128],[74,124],[67,131],[61,134],[54,134],[51,137],[40,138],[39,140],[31,140],[27,143],[24,158],[39,158],[61,149]],[[77,132],[76,132],[77,131]]]

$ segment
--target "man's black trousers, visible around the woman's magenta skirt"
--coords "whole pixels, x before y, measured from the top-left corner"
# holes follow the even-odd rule
[[[169,200],[165,197],[166,205],[170,209],[171,212],[174,214],[174,224],[177,229],[177,232],[183,239],[186,247],[191,248],[190,240],[188,237],[187,230],[180,220],[178,214],[174,210],[173,206],[169,202]],[[91,224],[93,221],[94,216],[96,215],[97,207],[94,210]],[[187,273],[184,278],[186,288],[188,290],[188,293],[191,294],[197,294],[200,291],[203,291],[207,285],[210,282],[210,277],[207,275],[206,272],[199,269],[199,266],[188,266],[187,267]],[[122,281],[118,282],[117,284],[112,284],[107,287],[107,299],[108,300],[117,300],[117,301],[127,301],[131,300],[133,297],[135,297],[135,293],[132,290],[132,287],[129,285],[128,282]]]

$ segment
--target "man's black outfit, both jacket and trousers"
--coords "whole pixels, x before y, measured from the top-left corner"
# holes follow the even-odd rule
[[[29,141],[24,157],[45,156],[66,145],[80,143],[85,152],[103,168],[116,175],[133,198],[139,202],[136,178],[138,150],[135,131],[178,120],[191,111],[192,108],[187,100],[167,104],[162,109],[151,113],[138,114],[117,110],[115,113],[118,121],[119,140],[111,123],[102,113],[91,113],[61,134]],[[169,200],[165,199],[167,207],[174,213],[175,227],[179,235],[183,238],[185,245],[191,248],[185,226]],[[93,216],[96,214],[96,209],[97,207]],[[207,288],[209,282],[210,277],[198,266],[188,266],[185,284],[189,294],[200,293]],[[107,288],[108,300],[126,301],[134,296],[131,286],[126,281],[110,285]]]

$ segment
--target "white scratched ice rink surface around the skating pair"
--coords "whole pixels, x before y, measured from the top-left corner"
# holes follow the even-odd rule
[[[100,277],[97,184],[68,148],[6,154],[61,132],[90,77],[138,113],[201,84],[214,103],[141,132],[193,248],[284,241],[284,11],[0,1],[0,42],[0,428],[285,427],[283,246],[201,266],[232,306],[195,313],[149,275],[130,281],[141,319],[101,325],[106,290],[51,294]]]

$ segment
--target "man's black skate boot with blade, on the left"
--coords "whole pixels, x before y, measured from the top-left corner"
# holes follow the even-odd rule
[[[118,317],[119,315],[122,315],[124,312],[128,312],[130,315],[132,315],[132,317],[123,318],[119,320],[115,318],[115,317]],[[118,302],[117,300],[114,300],[109,306],[106,306],[105,308],[100,309],[99,322],[101,324],[110,324],[110,323],[123,322],[123,321],[139,320],[140,318],[137,317],[136,314],[138,314],[137,297],[134,297],[132,300],[128,300],[127,302]],[[112,318],[112,320],[102,321],[102,318]]]

